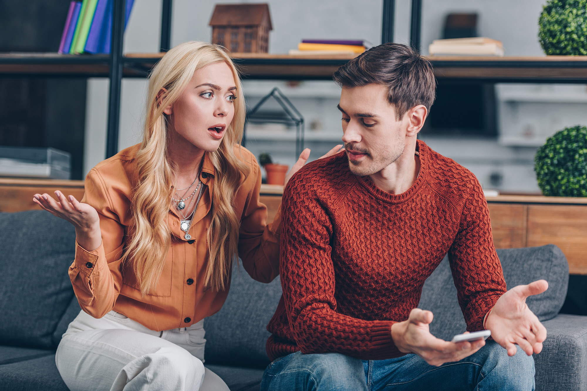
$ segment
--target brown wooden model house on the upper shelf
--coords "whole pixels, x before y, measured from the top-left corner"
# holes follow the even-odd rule
[[[212,43],[241,53],[266,53],[273,29],[268,4],[217,4],[210,26]]]

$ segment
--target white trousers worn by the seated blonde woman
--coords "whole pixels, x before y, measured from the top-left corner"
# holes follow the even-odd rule
[[[55,363],[71,391],[229,391],[204,368],[203,325],[161,333],[118,312],[96,319],[80,311]]]

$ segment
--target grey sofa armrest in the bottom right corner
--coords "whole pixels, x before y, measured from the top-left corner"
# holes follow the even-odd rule
[[[536,391],[587,390],[587,316],[559,314],[542,324],[548,336],[534,355]]]

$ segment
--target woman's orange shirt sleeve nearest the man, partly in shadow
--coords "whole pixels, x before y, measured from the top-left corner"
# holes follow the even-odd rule
[[[279,275],[281,205],[273,223],[267,224],[267,207],[259,201],[261,168],[254,156],[251,159],[251,174],[247,178],[249,192],[239,228],[238,254],[242,266],[253,279],[268,283]]]

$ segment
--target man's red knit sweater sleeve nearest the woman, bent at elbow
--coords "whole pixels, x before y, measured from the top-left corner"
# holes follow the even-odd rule
[[[297,180],[295,180],[297,179]],[[342,353],[360,359],[402,356],[392,321],[365,321],[336,312],[336,275],[331,257],[333,227],[318,197],[300,176],[282,201],[281,284],[292,335],[308,353]]]

